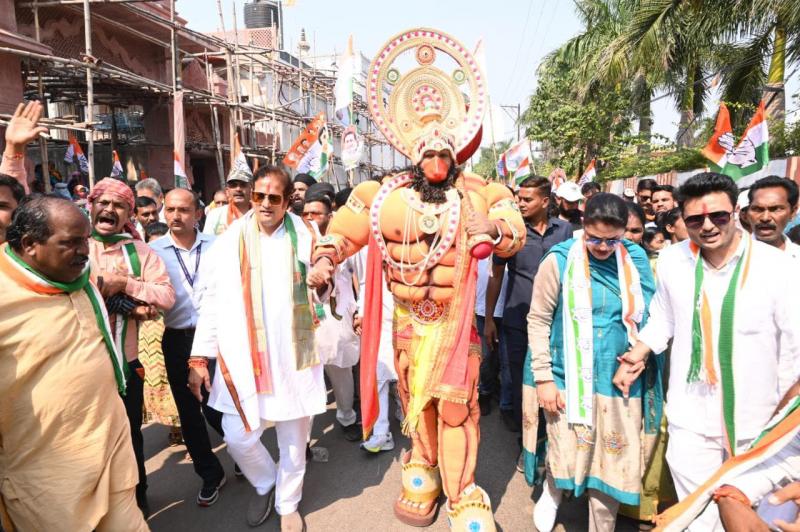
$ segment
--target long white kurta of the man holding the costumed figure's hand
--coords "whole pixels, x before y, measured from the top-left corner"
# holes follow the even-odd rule
[[[292,343],[291,244],[284,225],[272,235],[261,233],[261,275],[264,326],[273,392],[256,393],[248,332],[242,304],[239,268],[239,237],[250,215],[236,220],[217,238],[203,266],[205,279],[199,306],[199,321],[192,356],[222,355],[250,426],[258,419],[288,421],[325,411],[325,381],[322,364],[297,370]],[[302,219],[291,216],[297,230],[298,258],[309,268],[311,234]],[[208,268],[206,273],[205,268]],[[214,374],[208,404],[226,414],[237,414],[222,371]]]

